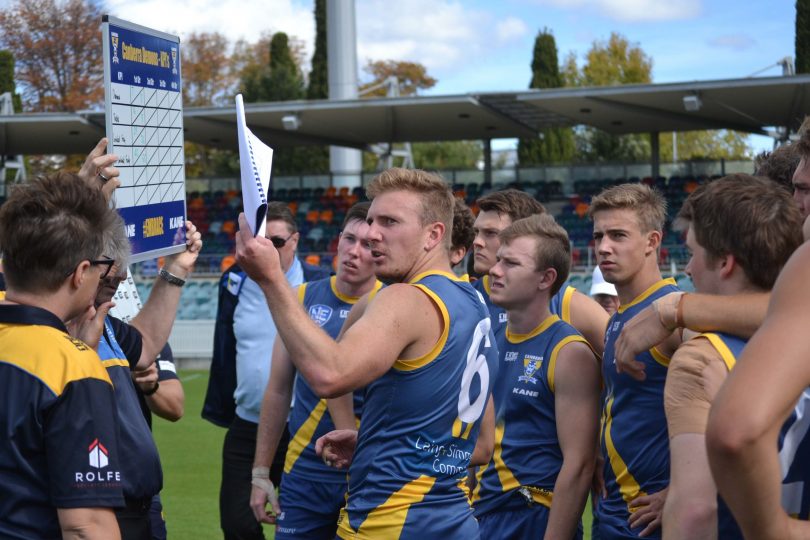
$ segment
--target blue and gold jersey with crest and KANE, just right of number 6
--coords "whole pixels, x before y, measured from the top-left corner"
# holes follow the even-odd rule
[[[569,343],[587,344],[556,315],[528,334],[513,334],[507,328],[496,342],[500,365],[493,389],[495,452],[477,475],[472,498],[476,516],[525,509],[529,498],[551,507],[563,462],[554,405],[557,355]],[[594,362],[598,362],[595,355]],[[512,496],[515,490],[525,500]]]

